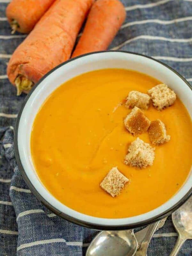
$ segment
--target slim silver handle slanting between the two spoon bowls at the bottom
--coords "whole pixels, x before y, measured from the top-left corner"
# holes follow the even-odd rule
[[[139,248],[139,250],[136,252],[135,256],[147,256],[147,249],[148,249],[148,245],[151,241],[151,238],[153,236],[153,234],[156,231],[156,228],[158,227],[160,221],[157,221],[155,223],[152,223],[149,225],[149,228],[147,230],[147,233],[141,243],[141,246]]]

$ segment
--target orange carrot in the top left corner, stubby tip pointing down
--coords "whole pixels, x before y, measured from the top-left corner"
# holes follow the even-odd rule
[[[6,16],[12,28],[20,33],[29,33],[37,21],[55,0],[12,0],[6,9]]]

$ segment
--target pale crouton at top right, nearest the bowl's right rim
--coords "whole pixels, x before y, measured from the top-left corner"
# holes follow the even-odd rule
[[[148,90],[153,106],[158,110],[171,106],[176,100],[176,94],[166,84],[158,84]]]

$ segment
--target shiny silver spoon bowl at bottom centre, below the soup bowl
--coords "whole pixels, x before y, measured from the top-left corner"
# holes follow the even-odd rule
[[[102,231],[92,240],[86,256],[132,256],[136,251],[133,230]]]

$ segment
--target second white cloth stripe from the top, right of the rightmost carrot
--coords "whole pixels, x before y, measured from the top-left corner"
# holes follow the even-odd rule
[[[125,23],[124,25],[121,26],[121,29],[130,27],[130,26],[133,26],[133,25],[140,25],[140,24],[146,24],[146,23],[158,23],[158,24],[162,24],[162,25],[169,25],[169,24],[188,21],[188,20],[192,20],[192,16],[185,17],[185,18],[174,19],[174,20],[158,20],[158,19],[138,20],[138,21],[132,21],[132,22]]]

